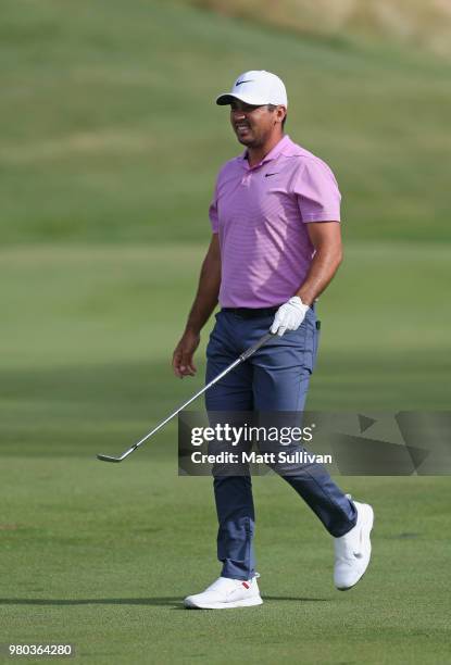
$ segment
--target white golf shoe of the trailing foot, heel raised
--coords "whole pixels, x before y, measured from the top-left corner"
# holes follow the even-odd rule
[[[351,499],[349,494],[347,497]],[[334,538],[334,582],[340,591],[358,584],[368,566],[372,553],[369,534],[374,522],[373,509],[367,503],[353,503],[358,511],[355,526],[344,536]]]

